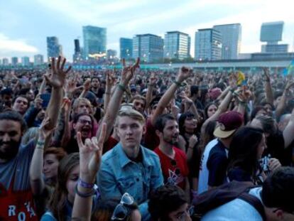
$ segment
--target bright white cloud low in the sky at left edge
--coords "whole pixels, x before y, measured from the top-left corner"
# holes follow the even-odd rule
[[[22,39],[10,39],[0,33],[0,53],[38,53],[38,48],[28,45]]]

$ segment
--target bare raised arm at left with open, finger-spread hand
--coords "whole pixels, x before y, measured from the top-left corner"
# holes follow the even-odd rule
[[[55,58],[53,58],[51,63],[52,72],[48,75],[44,75],[48,85],[51,85],[52,87],[50,102],[46,110],[46,114],[50,119],[50,128],[54,128],[58,121],[58,111],[62,99],[62,87],[65,85],[67,72],[71,69],[70,66],[67,70],[64,70],[65,62],[66,59],[59,56],[55,65]]]

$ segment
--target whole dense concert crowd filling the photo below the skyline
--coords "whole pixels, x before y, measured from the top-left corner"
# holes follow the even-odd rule
[[[292,75],[65,64],[0,72],[0,220],[294,220]]]

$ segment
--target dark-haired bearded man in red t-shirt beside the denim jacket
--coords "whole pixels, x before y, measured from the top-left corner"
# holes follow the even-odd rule
[[[156,134],[160,144],[154,152],[160,158],[160,165],[163,171],[165,183],[178,185],[190,195],[187,176],[189,169],[187,157],[184,151],[175,147],[179,139],[178,123],[171,114],[162,114],[156,119]]]

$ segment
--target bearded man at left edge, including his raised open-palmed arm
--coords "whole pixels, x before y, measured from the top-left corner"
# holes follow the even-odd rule
[[[70,68],[63,70],[65,59],[52,60],[53,70],[45,75],[52,89],[47,115],[48,129],[55,128],[62,99],[62,87]],[[0,220],[38,220],[31,191],[29,166],[36,148],[44,148],[44,143],[32,140],[21,145],[21,136],[26,123],[18,112],[0,114]]]

